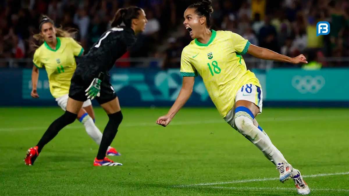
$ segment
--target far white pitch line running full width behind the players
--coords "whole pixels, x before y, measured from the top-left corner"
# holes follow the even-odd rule
[[[261,118],[258,119],[258,122],[284,122],[284,121],[302,121],[302,120],[323,120],[323,119],[349,119],[349,116],[297,116],[297,117],[284,117],[284,118]],[[174,121],[170,125],[199,125],[199,124],[215,124],[215,123],[224,123],[224,120],[203,120],[203,121]],[[140,122],[140,123],[121,123],[120,127],[143,127],[143,126],[158,126],[154,122]],[[45,130],[47,127],[21,127],[21,128],[0,128],[0,131],[20,131],[20,130]],[[79,129],[83,126],[67,126],[65,129]]]

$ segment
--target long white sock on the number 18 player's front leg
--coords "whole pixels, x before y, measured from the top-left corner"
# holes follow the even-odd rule
[[[235,114],[235,125],[239,133],[250,140],[275,165],[287,162],[281,152],[273,145],[265,132],[253,125],[253,119],[247,112],[239,111]]]

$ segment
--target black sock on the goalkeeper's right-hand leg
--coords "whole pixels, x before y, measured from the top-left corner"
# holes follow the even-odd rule
[[[116,133],[118,132],[118,127],[122,121],[122,113],[121,111],[116,112],[114,114],[108,114],[109,121],[105,126],[101,145],[99,145],[97,159],[104,159],[105,153],[110,146],[111,142],[114,140]]]

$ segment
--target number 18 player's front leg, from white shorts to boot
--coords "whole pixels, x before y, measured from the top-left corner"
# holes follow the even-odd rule
[[[254,121],[255,116],[262,112],[262,100],[263,93],[259,86],[245,84],[235,95],[235,108],[224,119],[277,166],[280,181],[283,182],[290,177],[292,166],[272,144],[263,129],[256,126],[257,121]]]

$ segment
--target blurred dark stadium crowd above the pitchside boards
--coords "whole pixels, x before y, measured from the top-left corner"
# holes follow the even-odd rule
[[[191,38],[183,27],[190,0],[2,0],[0,2],[0,58],[31,58],[40,14],[57,27],[77,30],[75,39],[85,51],[109,27],[121,7],[144,9],[146,30],[124,55],[163,58],[163,68],[178,68],[180,54]],[[212,28],[240,34],[252,44],[288,56],[303,53],[309,61],[326,66],[328,57],[349,56],[349,1],[347,0],[213,0]],[[329,21],[329,36],[316,36],[316,24]],[[0,67],[6,67],[0,63]],[[129,63],[118,64],[127,67]]]

